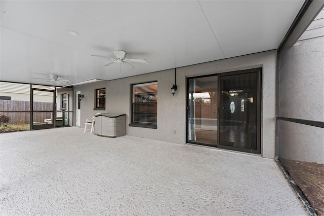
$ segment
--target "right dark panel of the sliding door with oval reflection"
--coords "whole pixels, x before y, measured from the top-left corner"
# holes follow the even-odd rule
[[[260,153],[260,76],[261,69],[219,76],[218,148]]]

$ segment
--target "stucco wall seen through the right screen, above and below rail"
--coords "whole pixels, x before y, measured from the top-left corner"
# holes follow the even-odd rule
[[[281,117],[324,121],[324,37],[280,53]],[[324,129],[280,121],[279,157],[324,163]]]

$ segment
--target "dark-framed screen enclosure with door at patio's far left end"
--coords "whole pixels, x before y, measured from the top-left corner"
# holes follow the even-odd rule
[[[0,115],[10,118],[2,132],[72,126],[72,92],[72,88],[0,82]]]

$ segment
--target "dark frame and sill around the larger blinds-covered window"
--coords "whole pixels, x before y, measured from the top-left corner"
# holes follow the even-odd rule
[[[130,110],[130,124],[129,126],[131,127],[143,127],[143,128],[151,128],[151,129],[157,129],[157,87],[156,87],[156,110],[155,110],[155,114],[156,114],[156,123],[149,123],[149,122],[134,122],[133,121],[133,117],[134,117],[134,112],[133,112],[133,109],[134,109],[134,103],[133,103],[133,96],[134,96],[134,93],[133,93],[133,89],[134,89],[134,86],[144,86],[144,85],[156,85],[157,86],[157,81],[151,81],[151,82],[145,82],[145,83],[136,83],[136,84],[131,84],[130,86],[130,103],[131,103],[131,110]]]

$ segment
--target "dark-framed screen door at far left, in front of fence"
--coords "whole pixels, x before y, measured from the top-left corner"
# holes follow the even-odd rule
[[[31,129],[54,128],[55,92],[33,88],[31,90]]]

